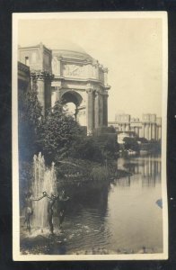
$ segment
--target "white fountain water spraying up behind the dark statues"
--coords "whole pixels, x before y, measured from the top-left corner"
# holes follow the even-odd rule
[[[55,163],[52,162],[51,168],[45,166],[45,159],[39,153],[37,157],[33,157],[33,181],[32,195],[38,199],[43,192],[57,194],[57,177],[55,171]],[[32,225],[36,228],[44,229],[48,226],[48,198],[45,197],[40,201],[33,202],[33,218]]]

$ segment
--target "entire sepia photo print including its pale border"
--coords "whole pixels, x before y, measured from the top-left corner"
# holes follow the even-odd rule
[[[13,14],[13,259],[166,259],[167,14]]]

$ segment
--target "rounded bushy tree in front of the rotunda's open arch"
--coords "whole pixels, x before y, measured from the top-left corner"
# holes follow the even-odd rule
[[[40,134],[40,145],[45,156],[50,161],[70,157],[80,137],[82,130],[78,122],[67,114],[62,102],[55,103],[43,121]]]

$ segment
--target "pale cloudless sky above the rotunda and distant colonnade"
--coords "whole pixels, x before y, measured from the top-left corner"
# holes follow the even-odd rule
[[[109,121],[116,113],[162,115],[163,36],[161,18],[20,20],[18,44],[57,49],[65,40],[108,67]],[[60,45],[59,45],[60,46]],[[64,49],[64,48],[63,48]]]

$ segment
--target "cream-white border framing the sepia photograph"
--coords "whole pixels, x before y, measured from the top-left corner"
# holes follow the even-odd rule
[[[39,19],[103,19],[161,18],[163,20],[163,114],[162,114],[162,193],[163,193],[163,253],[124,255],[22,255],[20,253],[19,163],[18,163],[18,92],[17,50],[19,20]],[[166,174],[167,96],[168,96],[168,31],[166,12],[93,12],[93,13],[22,13],[13,14],[13,260],[15,261],[82,261],[82,260],[159,260],[168,258],[168,204]]]

